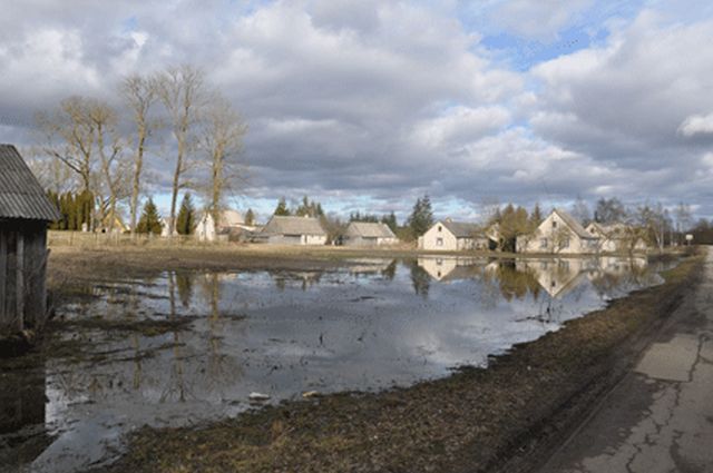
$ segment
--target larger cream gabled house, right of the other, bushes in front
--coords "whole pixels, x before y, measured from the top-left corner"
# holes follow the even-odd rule
[[[598,240],[576,218],[556,208],[534,233],[517,237],[516,252],[588,254],[597,252]]]

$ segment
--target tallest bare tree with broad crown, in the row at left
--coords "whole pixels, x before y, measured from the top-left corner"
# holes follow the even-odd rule
[[[192,66],[168,68],[156,76],[156,92],[168,111],[170,127],[176,139],[176,164],[172,183],[168,235],[176,228],[178,193],[186,186],[184,174],[189,168],[189,154],[194,148],[192,131],[205,100],[203,72]]]

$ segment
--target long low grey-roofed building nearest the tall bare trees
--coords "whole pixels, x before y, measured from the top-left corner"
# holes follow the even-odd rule
[[[255,237],[272,245],[324,245],[326,231],[319,218],[273,216]]]

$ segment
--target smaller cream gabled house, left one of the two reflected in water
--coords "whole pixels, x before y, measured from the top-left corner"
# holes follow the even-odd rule
[[[450,218],[438,220],[419,237],[420,249],[460,252],[468,249],[488,249],[490,239],[476,224],[453,221]]]

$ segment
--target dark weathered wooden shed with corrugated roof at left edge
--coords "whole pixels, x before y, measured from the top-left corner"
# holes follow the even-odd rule
[[[45,322],[47,226],[59,217],[14,146],[0,145],[0,333]]]

